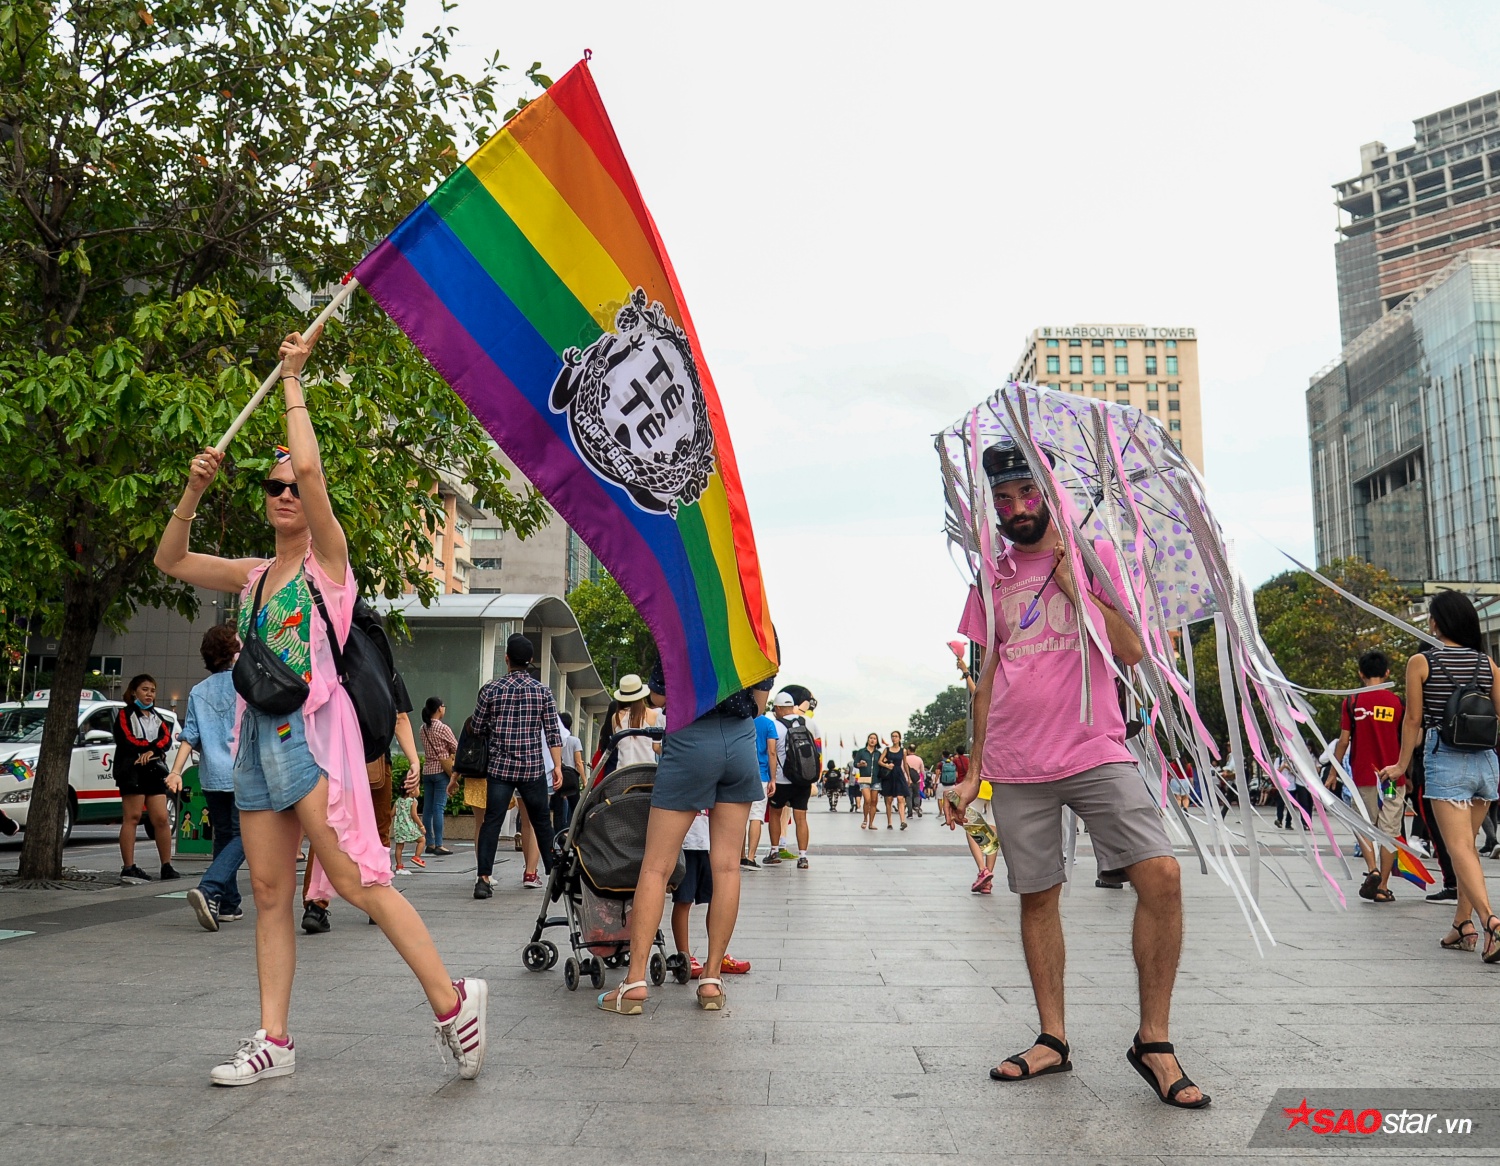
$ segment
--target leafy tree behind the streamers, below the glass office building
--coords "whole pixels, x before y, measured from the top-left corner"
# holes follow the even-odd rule
[[[1398,620],[1406,620],[1407,608],[1416,597],[1400,587],[1389,572],[1359,558],[1335,560],[1323,567],[1323,575]],[[1400,683],[1407,657],[1416,647],[1413,636],[1401,635],[1300,570],[1282,572],[1256,588],[1256,618],[1287,680],[1310,689],[1358,687],[1356,663],[1372,648],[1390,657],[1390,674]],[[1227,741],[1212,623],[1200,624],[1194,632],[1192,666],[1198,716],[1215,740]],[[1324,735],[1336,735],[1342,698],[1310,695],[1306,699]]]

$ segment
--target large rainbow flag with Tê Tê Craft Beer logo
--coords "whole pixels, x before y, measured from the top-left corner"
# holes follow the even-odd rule
[[[620,581],[669,723],[776,672],[718,393],[585,62],[354,276]]]

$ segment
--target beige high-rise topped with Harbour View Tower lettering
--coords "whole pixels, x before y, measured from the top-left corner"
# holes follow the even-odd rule
[[[1146,324],[1034,329],[1011,380],[1134,405],[1161,422],[1188,461],[1203,470],[1197,329]]]

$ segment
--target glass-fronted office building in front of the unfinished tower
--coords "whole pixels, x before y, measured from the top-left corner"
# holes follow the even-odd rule
[[[1317,560],[1500,579],[1500,249],[1449,260],[1306,393]]]

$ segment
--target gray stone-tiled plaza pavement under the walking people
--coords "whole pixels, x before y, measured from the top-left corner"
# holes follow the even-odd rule
[[[1226,888],[1185,858],[1188,941],[1173,1035],[1214,1104],[1158,1104],[1124,1058],[1136,1016],[1134,896],[1095,888],[1082,846],[1064,900],[1076,1071],[993,1083],[987,1068],[1035,1032],[1016,899],[1004,887],[970,894],[974,864],[932,816],[876,834],[858,828],[858,815],[810,816],[810,870],[786,863],[744,881],[732,953],[753,969],[728,981],[718,1014],[669,983],[644,1016],[606,1016],[586,984],[566,990],[561,966],[526,972],[520,948],[540,896],[520,888],[519,855],[496,869],[489,902],[470,897],[465,843],[399,879],[450,969],[489,980],[489,1053],[477,1082],[456,1079],[416,981],[346,905],[334,905],[332,933],[300,939],[296,1076],[216,1089],[210,1067],[255,1026],[249,897],[244,921],[210,935],[182,899],[160,897],[189,879],[0,893],[0,935],[32,932],[0,941],[9,984],[0,1161],[1408,1158],[1420,1151],[1310,1155],[1248,1143],[1278,1088],[1491,1086],[1500,1074],[1500,968],[1438,950],[1448,905],[1398,882],[1400,902],[1354,899],[1347,912],[1310,890],[1308,912],[1268,878],[1280,945],[1262,959]],[[14,869],[16,851],[0,848],[0,866]],[[118,869],[114,846],[98,842],[75,842],[69,863]],[[1500,863],[1485,866],[1500,876]],[[1286,867],[1311,887],[1300,861]],[[190,878],[202,866],[183,860],[182,869]]]

